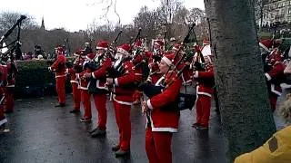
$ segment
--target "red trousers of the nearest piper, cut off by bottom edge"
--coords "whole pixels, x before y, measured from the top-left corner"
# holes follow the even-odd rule
[[[149,163],[172,162],[172,136],[171,132],[153,132],[151,128],[146,129],[146,155]]]

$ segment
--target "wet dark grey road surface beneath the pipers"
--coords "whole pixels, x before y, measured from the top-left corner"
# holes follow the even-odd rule
[[[117,142],[118,131],[111,101],[107,102],[108,120],[105,138],[92,139],[88,133],[96,126],[96,110],[93,122],[80,122],[82,114],[69,113],[71,96],[65,108],[55,108],[55,97],[16,101],[15,112],[7,116],[11,131],[0,135],[0,162],[4,163],[146,163],[146,119],[138,106],[131,111],[131,154],[127,158],[115,158],[111,147]],[[214,104],[213,104],[214,106]],[[220,163],[225,162],[225,144],[220,120],[212,109],[209,131],[197,131],[191,127],[195,112],[181,111],[180,129],[173,137],[174,162]]]

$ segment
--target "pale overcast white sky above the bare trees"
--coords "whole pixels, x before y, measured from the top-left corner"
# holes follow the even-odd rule
[[[116,0],[116,12],[120,14],[121,24],[132,23],[135,15],[139,12],[141,6],[148,6],[155,9],[160,0]],[[41,24],[44,16],[45,28],[61,28],[74,32],[85,30],[88,24],[93,21],[105,24],[105,19],[101,16],[105,14],[102,9],[108,5],[110,0],[3,0],[0,5],[0,13],[3,11],[19,12],[21,14],[30,14],[35,17],[35,21]],[[182,0],[183,2],[183,0]],[[198,7],[204,9],[203,0],[184,0],[186,8]],[[108,19],[111,22],[117,21],[114,14],[114,8],[111,8]]]

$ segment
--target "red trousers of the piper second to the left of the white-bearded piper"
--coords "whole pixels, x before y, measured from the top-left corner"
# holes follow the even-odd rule
[[[84,107],[84,119],[91,119],[92,118],[91,101],[90,94],[87,90],[81,90],[81,101]]]

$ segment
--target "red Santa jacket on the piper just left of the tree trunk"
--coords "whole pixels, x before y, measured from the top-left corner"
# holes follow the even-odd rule
[[[201,94],[211,97],[214,91],[213,87],[215,85],[213,66],[209,64],[206,65],[205,72],[196,71],[193,77],[197,82],[196,93],[198,95]]]

